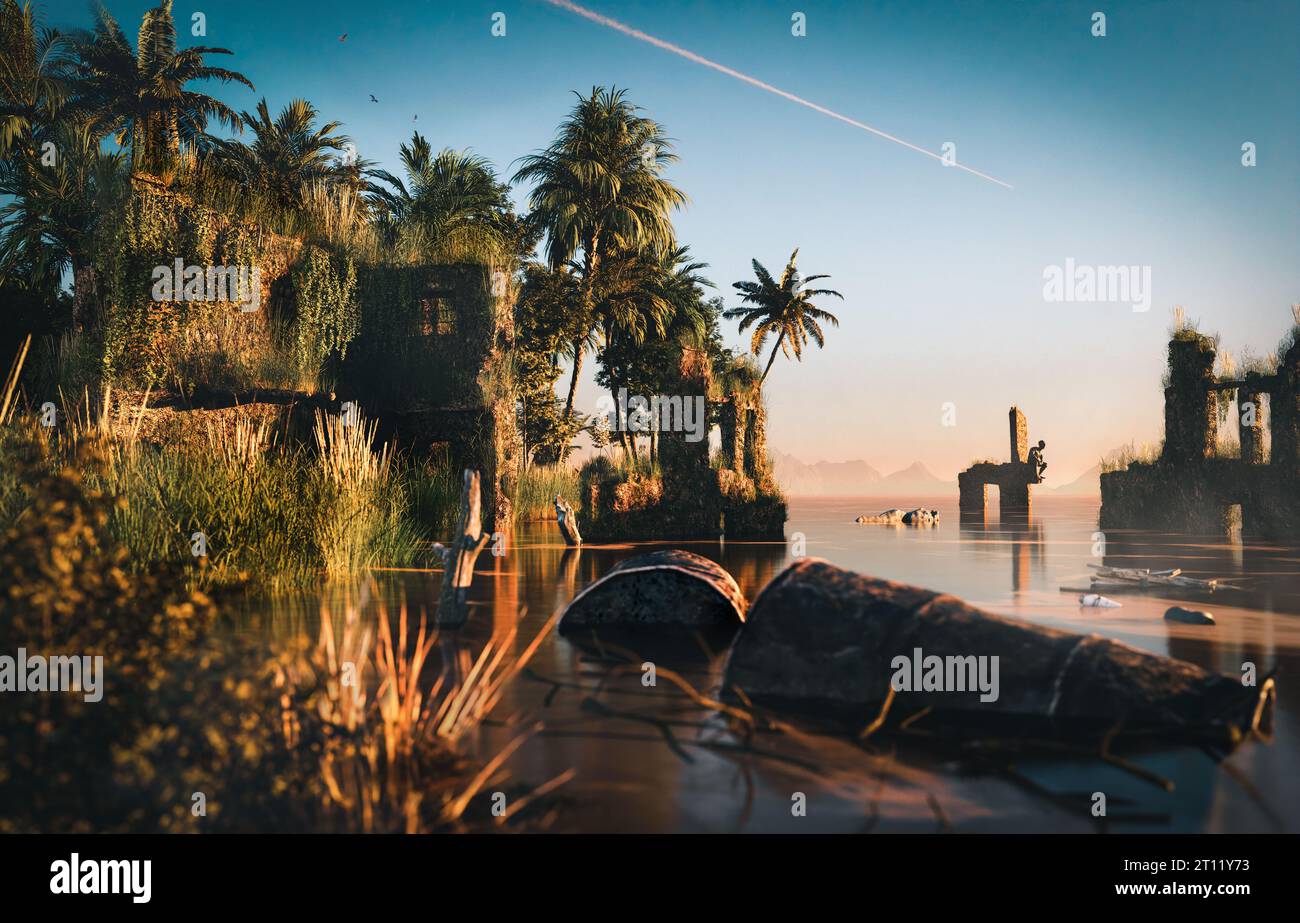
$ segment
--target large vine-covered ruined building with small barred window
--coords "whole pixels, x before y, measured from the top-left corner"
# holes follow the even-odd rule
[[[177,263],[209,274],[213,266],[255,268],[255,308],[160,299],[157,272]],[[273,432],[302,438],[316,412],[350,404],[377,421],[381,439],[442,455],[458,471],[478,469],[485,526],[508,528],[520,458],[508,268],[364,261],[214,213],[147,177],[133,178],[120,228],[96,265],[99,278],[87,289],[94,303],[81,309],[103,320],[99,359],[114,391],[125,399],[152,389],[139,426],[146,438],[202,437],[217,410],[224,422],[270,420]],[[296,389],[311,382],[317,390],[326,369],[320,393],[252,387],[231,372],[259,356],[295,368]]]

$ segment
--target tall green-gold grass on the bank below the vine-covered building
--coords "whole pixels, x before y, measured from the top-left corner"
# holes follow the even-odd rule
[[[372,447],[373,422],[320,416],[315,451],[278,445],[248,420],[209,425],[192,446],[156,446],[107,438],[109,404],[105,394],[100,406],[65,408],[70,419],[55,433],[22,426],[46,446],[51,471],[74,464],[82,443],[104,445],[104,464],[84,478],[117,498],[108,528],[135,571],[185,567],[196,586],[286,589],[424,563],[426,545],[452,529],[459,489],[450,471]],[[0,529],[32,502],[17,474],[20,429],[0,426]]]

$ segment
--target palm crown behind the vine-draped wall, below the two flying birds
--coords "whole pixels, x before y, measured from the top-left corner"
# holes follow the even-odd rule
[[[296,211],[303,191],[313,182],[328,182],[338,174],[334,151],[342,151],[350,138],[334,134],[339,122],[316,126],[316,108],[295,99],[272,120],[266,100],[257,103],[256,114],[242,112],[239,120],[252,135],[252,143],[214,140],[212,156],[218,169],[280,209]]]

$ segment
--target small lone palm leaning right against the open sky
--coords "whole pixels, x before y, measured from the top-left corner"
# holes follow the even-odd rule
[[[844,295],[831,289],[805,289],[803,286],[809,282],[831,277],[823,274],[801,278],[798,269],[794,266],[798,255],[798,248],[790,254],[790,261],[785,264],[785,272],[781,273],[780,282],[774,281],[772,274],[763,268],[763,264],[754,260],[754,274],[758,277],[758,282],[732,283],[733,289],[744,294],[741,300],[753,307],[742,306],[728,308],[723,312],[723,317],[728,320],[734,317],[741,318],[740,333],[745,333],[753,324],[758,325],[754,328],[754,334],[749,343],[750,352],[755,356],[763,351],[767,338],[774,333],[777,334],[776,344],[772,346],[772,355],[763,369],[763,377],[758,380],[759,387],[767,381],[767,373],[772,370],[777,350],[784,352],[786,358],[793,352],[794,359],[802,361],[803,346],[809,338],[819,348],[826,346],[826,335],[818,321],[828,321],[831,326],[840,326],[840,318],[828,311],[822,311],[812,304],[811,299],[822,295],[835,295],[842,299]]]

